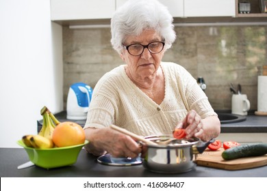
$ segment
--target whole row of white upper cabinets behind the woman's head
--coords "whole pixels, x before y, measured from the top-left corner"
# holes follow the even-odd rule
[[[51,0],[51,20],[110,19],[127,0]],[[174,18],[236,16],[236,0],[159,0]]]

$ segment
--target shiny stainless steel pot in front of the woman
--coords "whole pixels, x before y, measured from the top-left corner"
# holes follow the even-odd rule
[[[159,143],[173,138],[173,135],[146,136],[145,138]],[[194,154],[202,153],[212,142],[214,139],[203,143],[199,138],[190,138],[175,139],[168,145],[141,143],[145,151],[142,165],[155,173],[185,173],[195,166]]]

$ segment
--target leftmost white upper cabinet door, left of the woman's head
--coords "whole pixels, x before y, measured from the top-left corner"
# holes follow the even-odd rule
[[[51,0],[51,20],[111,18],[115,0]]]

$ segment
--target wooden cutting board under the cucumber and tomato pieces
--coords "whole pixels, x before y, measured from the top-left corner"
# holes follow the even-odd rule
[[[206,149],[203,153],[196,157],[194,162],[196,162],[199,166],[221,168],[231,171],[267,165],[267,155],[238,158],[235,160],[224,160],[222,158],[223,151],[223,148],[220,148],[217,151]]]

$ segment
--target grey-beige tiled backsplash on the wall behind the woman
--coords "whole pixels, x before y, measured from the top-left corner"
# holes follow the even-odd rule
[[[215,110],[231,110],[230,83],[240,83],[251,110],[257,110],[257,67],[267,65],[267,25],[175,27],[175,31],[177,40],[163,61],[179,63],[194,78],[203,76]],[[94,88],[105,72],[123,64],[110,38],[109,28],[63,27],[64,108],[73,83]]]

